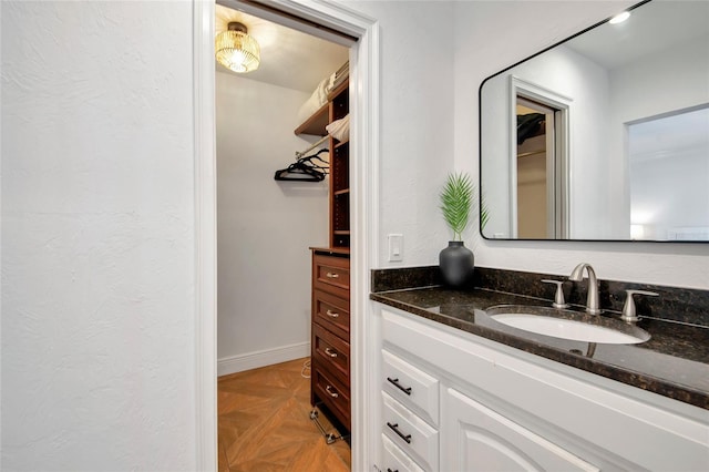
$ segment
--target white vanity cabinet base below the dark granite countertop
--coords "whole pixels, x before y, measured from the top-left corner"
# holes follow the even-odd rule
[[[384,305],[376,312],[381,471],[709,470],[707,410]]]

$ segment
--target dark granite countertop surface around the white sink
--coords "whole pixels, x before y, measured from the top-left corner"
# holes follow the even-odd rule
[[[512,328],[492,319],[495,305],[548,306],[537,298],[489,289],[429,287],[373,293],[372,300],[709,410],[709,329],[661,319],[637,326],[651,338],[637,345],[589,346]],[[575,308],[573,308],[575,309]],[[602,315],[603,316],[603,315]]]

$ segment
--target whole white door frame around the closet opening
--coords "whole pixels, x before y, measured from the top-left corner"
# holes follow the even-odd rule
[[[215,0],[193,0],[194,222],[195,222],[195,464],[217,469],[216,406],[216,122],[214,16]],[[367,332],[373,315],[369,301],[370,270],[377,264],[379,222],[379,24],[343,4],[327,0],[259,0],[296,18],[321,24],[358,42],[350,49],[350,227],[351,238],[351,408],[352,470],[369,470],[376,441],[366,414],[376,379],[367,366],[374,350]]]

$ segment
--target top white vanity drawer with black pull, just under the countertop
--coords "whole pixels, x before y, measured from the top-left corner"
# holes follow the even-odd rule
[[[383,349],[383,389],[434,427],[439,424],[439,380]]]

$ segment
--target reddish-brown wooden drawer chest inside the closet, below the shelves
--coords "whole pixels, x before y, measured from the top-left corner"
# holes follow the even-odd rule
[[[350,431],[349,249],[312,249],[310,402],[325,404]]]

